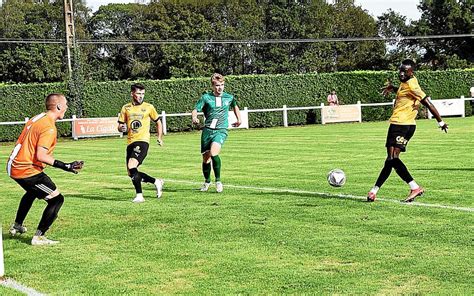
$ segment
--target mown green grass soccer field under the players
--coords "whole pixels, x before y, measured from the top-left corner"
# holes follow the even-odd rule
[[[150,145],[141,170],[165,179],[163,197],[144,184],[133,204],[126,140],[60,140],[55,156],[83,159],[78,175],[48,168],[65,203],[32,247],[44,202],[10,238],[23,194],[0,174],[6,277],[45,294],[474,294],[474,117],[418,121],[402,160],[426,193],[393,172],[365,202],[385,159],[386,122],[231,131],[224,192],[199,192],[200,133]],[[0,145],[5,167],[13,143]],[[326,174],[346,172],[342,188]],[[0,294],[18,292],[0,285]]]

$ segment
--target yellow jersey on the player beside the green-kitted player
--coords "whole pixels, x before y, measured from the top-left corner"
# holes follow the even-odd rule
[[[150,120],[158,121],[158,112],[149,103],[125,104],[120,111],[119,123],[127,124],[127,142],[137,141],[150,143]]]

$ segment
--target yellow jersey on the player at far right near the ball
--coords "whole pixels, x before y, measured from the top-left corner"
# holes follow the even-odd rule
[[[399,125],[415,125],[420,102],[426,97],[418,84],[418,79],[412,77],[402,82],[397,91],[395,106],[390,117],[390,123]]]

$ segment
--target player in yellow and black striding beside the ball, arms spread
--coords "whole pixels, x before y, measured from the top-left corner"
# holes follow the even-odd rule
[[[390,127],[385,144],[385,147],[387,147],[387,159],[374,187],[367,194],[367,201],[375,201],[377,191],[390,176],[392,168],[410,186],[410,193],[404,200],[405,202],[412,202],[417,196],[424,193],[425,190],[415,182],[407,167],[399,158],[400,152],[405,152],[408,141],[415,133],[415,118],[420,104],[428,108],[438,121],[439,127],[443,131],[448,132],[448,125],[444,123],[438,110],[431,104],[430,97],[421,90],[418,80],[414,76],[414,70],[415,62],[404,60],[400,65],[398,73],[401,82],[400,87],[397,88],[389,82],[382,89],[383,95],[394,91],[397,93],[397,97],[392,116],[390,117]]]

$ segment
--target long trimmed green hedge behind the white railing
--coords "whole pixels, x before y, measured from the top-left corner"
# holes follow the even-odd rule
[[[474,81],[474,69],[449,71],[419,71],[418,80],[433,99],[468,96]],[[395,71],[357,71],[305,75],[245,75],[228,76],[226,91],[237,96],[241,108],[249,109],[319,106],[335,88],[343,104],[386,102],[391,98],[380,95],[387,78],[398,81]],[[209,90],[209,78],[140,81],[146,86],[145,100],[154,104],[159,112],[190,112],[201,93]],[[131,81],[87,82],[83,94],[83,117],[116,116],[123,104],[130,100]],[[0,86],[0,122],[19,121],[42,112],[44,97],[51,92],[66,93],[66,84],[27,84]],[[471,113],[470,105],[468,113]],[[70,117],[76,110],[66,114]],[[390,107],[363,109],[363,120],[385,120]],[[316,110],[290,111],[291,125],[320,121]],[[282,124],[279,112],[251,113],[251,127],[269,127]],[[192,129],[190,118],[168,118],[171,131]],[[21,127],[0,126],[0,140],[12,140]],[[70,125],[60,125],[60,134],[69,135]]]

